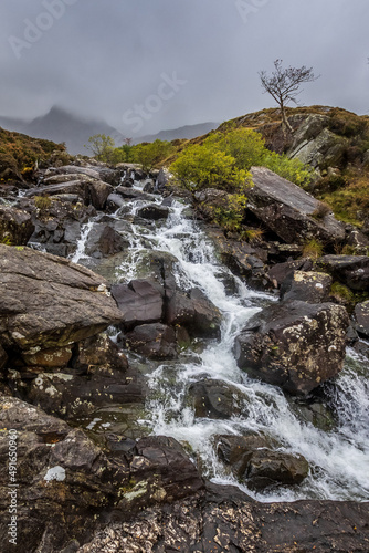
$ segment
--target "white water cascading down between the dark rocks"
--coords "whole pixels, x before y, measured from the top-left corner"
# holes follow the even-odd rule
[[[136,213],[139,206],[140,201],[133,201],[131,212]],[[120,281],[136,276],[136,267],[148,244],[154,250],[175,255],[178,285],[183,290],[200,288],[219,307],[223,315],[222,334],[219,342],[210,341],[201,353],[187,352],[178,361],[164,363],[147,376],[150,394],[145,424],[156,435],[187,442],[213,481],[239,486],[260,501],[368,500],[369,371],[365,361],[348,351],[345,371],[334,385],[327,386],[331,406],[338,413],[337,426],[330,431],[299,420],[278,388],[249,378],[236,366],[232,353],[234,337],[262,304],[275,299],[251,291],[239,279],[235,279],[236,293],[226,293],[223,282],[230,278],[230,272],[217,260],[211,241],[199,226],[183,217],[186,207],[173,202],[166,223],[154,230],[131,225],[130,254],[117,276]],[[87,227],[84,231],[86,238]],[[78,244],[73,260],[81,259],[83,251]],[[245,398],[243,414],[229,420],[196,418],[187,403],[188,387],[204,377],[238,386]],[[254,493],[229,476],[217,458],[214,437],[242,435],[250,430],[274,438],[285,452],[303,455],[310,466],[304,483],[273,493]]]

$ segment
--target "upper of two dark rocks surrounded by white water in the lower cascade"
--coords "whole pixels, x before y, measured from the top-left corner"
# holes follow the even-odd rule
[[[223,380],[209,378],[191,384],[189,403],[201,418],[229,419],[247,413],[242,392]]]

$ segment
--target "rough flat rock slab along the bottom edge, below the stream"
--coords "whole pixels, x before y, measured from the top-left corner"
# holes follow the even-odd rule
[[[366,553],[368,514],[365,502],[260,503],[233,486],[207,483],[200,497],[101,525],[77,553],[160,551],[162,543],[183,553]]]

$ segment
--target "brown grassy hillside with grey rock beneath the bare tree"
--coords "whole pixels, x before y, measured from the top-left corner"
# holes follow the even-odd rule
[[[309,164],[316,179],[308,191],[326,201],[340,220],[369,228],[369,116],[318,105],[287,108],[287,116],[293,135],[283,131],[274,108],[228,121],[217,131],[256,131],[271,150]],[[202,144],[208,136],[182,142],[178,152]]]

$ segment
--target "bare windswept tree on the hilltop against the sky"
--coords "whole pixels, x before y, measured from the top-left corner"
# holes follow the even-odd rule
[[[259,73],[264,93],[267,92],[278,104],[282,113],[282,121],[285,127],[292,133],[293,128],[289,125],[285,107],[288,102],[297,105],[297,96],[301,94],[302,83],[316,81],[318,77],[314,75],[313,67],[282,67],[283,60],[275,60],[272,75],[267,75],[265,71]]]

